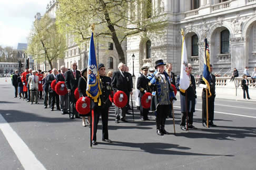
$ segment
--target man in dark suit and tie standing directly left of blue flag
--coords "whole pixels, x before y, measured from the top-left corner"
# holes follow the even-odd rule
[[[76,70],[76,68],[77,68],[76,62],[73,62],[71,65],[71,69],[65,73],[65,84],[66,84],[68,95],[70,98],[69,104],[70,104],[70,112],[72,114],[71,119],[74,119],[74,115],[75,115],[75,118],[80,118],[80,116],[78,116],[78,113],[75,109],[76,100],[75,100],[74,92],[78,86],[78,79],[81,77],[81,73],[80,71]]]

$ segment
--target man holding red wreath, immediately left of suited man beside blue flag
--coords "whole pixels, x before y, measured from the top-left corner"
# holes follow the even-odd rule
[[[56,76],[56,83],[59,81],[65,81],[65,72],[66,72],[66,67],[61,66],[61,72],[58,73]],[[68,94],[61,95],[61,112],[62,114],[67,114],[67,109],[68,109]]]

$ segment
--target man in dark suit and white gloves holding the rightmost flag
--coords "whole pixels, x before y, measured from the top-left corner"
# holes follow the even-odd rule
[[[215,100],[215,76],[212,74],[212,65],[210,65],[210,77],[211,77],[211,83],[210,83],[210,91],[211,91],[211,97],[209,97],[209,92],[208,92],[208,114],[209,114],[209,126],[216,126],[213,123],[213,118],[214,118],[214,100]],[[200,77],[200,83],[203,85],[200,87],[203,87],[202,91],[202,123],[204,127],[207,127],[206,124],[206,88],[207,86],[205,85],[205,82],[203,81],[203,76]]]

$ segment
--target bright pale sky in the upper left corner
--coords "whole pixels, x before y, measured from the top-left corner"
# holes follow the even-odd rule
[[[27,43],[36,13],[43,15],[50,0],[0,0],[0,46]]]

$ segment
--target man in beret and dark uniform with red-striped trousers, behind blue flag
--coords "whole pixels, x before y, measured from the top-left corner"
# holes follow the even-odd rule
[[[111,94],[111,78],[105,76],[105,66],[103,63],[100,63],[98,66],[99,74],[100,74],[100,85],[102,94],[100,95],[101,106],[95,103],[94,112],[92,113],[92,144],[96,145],[96,133],[97,133],[97,125],[99,123],[100,115],[102,120],[102,141],[111,143],[109,140],[109,130],[107,128],[107,122],[109,121],[109,108],[111,106],[111,101],[109,99],[109,95]]]

